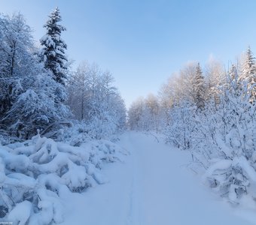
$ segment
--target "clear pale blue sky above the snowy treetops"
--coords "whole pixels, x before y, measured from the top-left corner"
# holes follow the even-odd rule
[[[255,0],[0,0],[2,13],[20,11],[35,39],[58,6],[69,58],[111,71],[130,104],[187,61],[214,55],[227,64],[248,45],[256,53]]]

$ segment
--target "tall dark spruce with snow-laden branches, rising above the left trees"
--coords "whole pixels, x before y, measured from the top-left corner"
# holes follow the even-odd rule
[[[50,13],[49,18],[44,25],[47,29],[47,34],[40,40],[43,46],[41,59],[44,62],[44,67],[53,72],[53,79],[64,86],[67,70],[66,63],[68,60],[65,55],[67,45],[62,40],[61,34],[62,31],[66,31],[66,28],[59,25],[62,18],[60,17],[58,7]]]

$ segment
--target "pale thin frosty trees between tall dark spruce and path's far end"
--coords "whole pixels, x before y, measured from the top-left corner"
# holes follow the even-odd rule
[[[83,62],[67,86],[68,104],[75,118],[86,123],[87,132],[96,138],[117,133],[125,126],[125,105],[113,83],[108,71]]]

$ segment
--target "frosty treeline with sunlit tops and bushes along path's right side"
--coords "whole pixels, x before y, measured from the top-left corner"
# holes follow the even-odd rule
[[[194,171],[237,203],[253,198],[256,177],[256,64],[251,49],[228,71],[212,60],[203,71],[190,63],[169,78],[159,95],[135,101],[130,128],[164,134],[166,142],[189,150]]]

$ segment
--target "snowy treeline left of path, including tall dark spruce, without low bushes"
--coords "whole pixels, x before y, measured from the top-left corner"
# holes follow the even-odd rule
[[[88,63],[77,72],[70,69],[61,21],[56,8],[37,47],[22,14],[0,15],[0,136],[4,139],[28,139],[38,131],[56,133],[71,119],[81,121],[96,138],[124,127],[126,110],[111,74]]]

